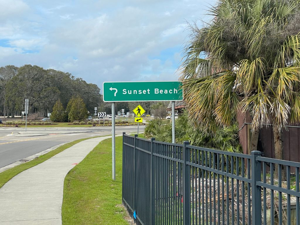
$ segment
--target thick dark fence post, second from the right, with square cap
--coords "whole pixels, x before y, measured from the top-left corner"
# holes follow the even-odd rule
[[[190,144],[188,141],[183,142],[183,224],[190,224],[190,176],[189,165],[186,164],[190,161],[190,150],[186,147]]]

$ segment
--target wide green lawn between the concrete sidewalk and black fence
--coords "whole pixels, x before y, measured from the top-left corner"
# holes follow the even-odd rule
[[[122,137],[116,137],[116,181],[112,180],[111,139],[99,143],[64,180],[62,224],[122,225]]]

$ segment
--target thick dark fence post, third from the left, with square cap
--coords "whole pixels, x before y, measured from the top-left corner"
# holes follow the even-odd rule
[[[151,160],[150,160],[150,225],[154,225],[154,215],[155,215],[155,190],[154,190],[154,143],[155,138],[151,138]]]

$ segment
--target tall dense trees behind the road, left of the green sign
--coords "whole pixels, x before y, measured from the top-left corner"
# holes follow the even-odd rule
[[[100,88],[75,78],[71,73],[36,65],[0,67],[0,116],[21,116],[24,99],[29,99],[29,114],[47,116],[56,101],[64,108],[72,96],[79,96],[89,112],[102,102]]]

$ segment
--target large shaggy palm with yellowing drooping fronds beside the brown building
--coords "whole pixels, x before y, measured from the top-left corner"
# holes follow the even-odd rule
[[[191,118],[212,130],[248,110],[251,150],[271,124],[275,157],[283,159],[282,129],[300,121],[299,2],[220,0],[210,13],[203,28],[191,26],[182,62]]]

